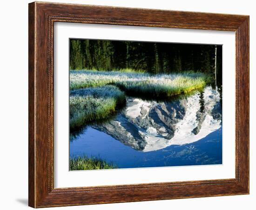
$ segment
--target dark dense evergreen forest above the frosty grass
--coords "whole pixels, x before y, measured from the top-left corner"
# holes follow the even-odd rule
[[[222,46],[217,46],[216,61],[217,73],[222,72]],[[69,68],[212,74],[215,73],[215,45],[70,39]]]

